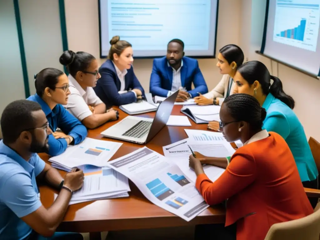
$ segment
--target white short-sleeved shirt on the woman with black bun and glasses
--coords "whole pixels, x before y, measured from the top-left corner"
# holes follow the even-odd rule
[[[82,121],[84,118],[92,115],[88,105],[94,107],[103,102],[96,95],[92,87],[87,87],[84,90],[73,76],[69,75],[68,78],[70,95],[68,98],[68,103],[67,105],[64,105],[64,108],[66,108],[73,116]]]

